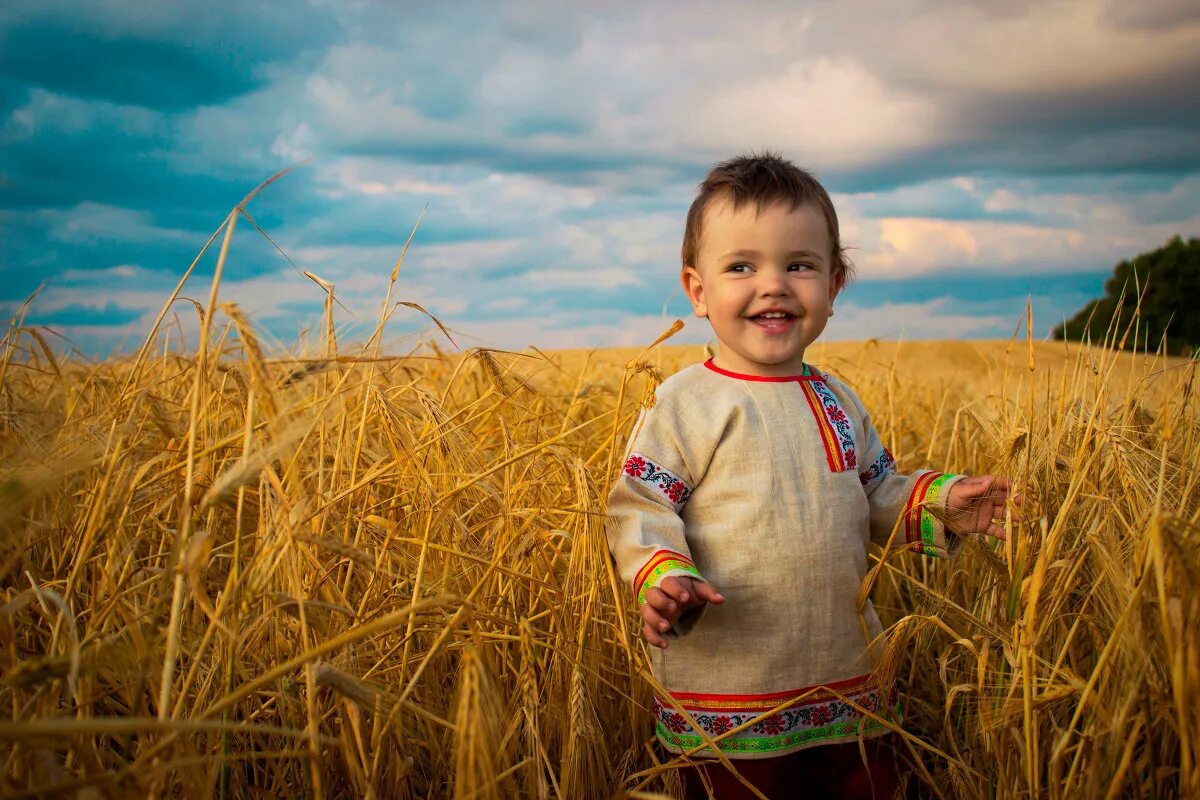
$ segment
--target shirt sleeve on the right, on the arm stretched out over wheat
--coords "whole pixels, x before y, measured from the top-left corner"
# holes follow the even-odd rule
[[[892,530],[899,524],[900,529],[892,540],[893,547],[907,547],[941,558],[956,553],[960,541],[947,530],[942,519],[950,486],[962,475],[928,469],[911,475],[899,474],[895,459],[883,446],[866,408],[848,387],[840,387],[850,396],[862,420],[858,480],[871,510],[871,541],[887,545]]]

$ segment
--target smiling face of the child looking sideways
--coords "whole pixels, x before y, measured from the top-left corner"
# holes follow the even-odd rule
[[[683,287],[721,347],[713,362],[751,375],[798,375],[804,350],[824,330],[842,277],[830,275],[824,216],[811,205],[734,211],[714,198]],[[772,317],[764,313],[774,312]],[[779,314],[782,314],[780,318]]]

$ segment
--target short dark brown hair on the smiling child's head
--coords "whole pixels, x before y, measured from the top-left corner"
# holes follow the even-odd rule
[[[700,255],[700,237],[704,221],[704,210],[716,197],[727,197],[738,210],[748,203],[755,209],[773,203],[782,203],[794,211],[805,204],[816,206],[826,218],[829,229],[830,275],[842,281],[850,279],[852,266],[841,246],[841,231],[838,228],[838,212],[833,207],[829,193],[817,179],[800,169],[786,158],[773,154],[750,154],[736,156],[713,167],[700,185],[696,199],[688,209],[688,222],[683,230],[683,266],[695,266]]]

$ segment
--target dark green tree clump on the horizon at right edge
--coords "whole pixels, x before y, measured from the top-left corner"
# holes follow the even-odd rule
[[[1117,313],[1117,301],[1123,290],[1124,303],[1116,326],[1120,337],[1133,319],[1139,287],[1142,293],[1138,324],[1139,349],[1148,341],[1150,349],[1153,350],[1162,342],[1164,332],[1171,353],[1188,354],[1200,348],[1200,239],[1184,241],[1180,236],[1132,261],[1117,264],[1112,277],[1104,282],[1104,297],[1091,301],[1072,319],[1057,326],[1054,337],[1076,342],[1088,337],[1093,342],[1102,341]],[[1132,344],[1133,335],[1127,339],[1126,347]]]

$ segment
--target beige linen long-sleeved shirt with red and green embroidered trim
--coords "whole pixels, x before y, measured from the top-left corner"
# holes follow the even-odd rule
[[[638,604],[671,576],[725,602],[652,649],[671,696],[654,700],[662,744],[691,751],[694,724],[713,739],[740,727],[720,750],[762,758],[887,730],[847,698],[899,721],[894,686],[872,674],[880,619],[870,601],[858,610],[866,549],[899,525],[893,547],[947,554],[935,511],[958,477],[899,475],[858,397],[808,366],[762,378],[709,360],[665,380],[608,494],[608,545]]]

